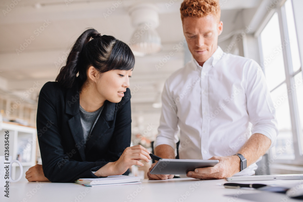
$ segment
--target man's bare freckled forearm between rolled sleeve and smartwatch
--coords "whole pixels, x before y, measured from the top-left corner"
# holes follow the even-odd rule
[[[255,163],[269,149],[271,140],[262,134],[253,134],[237,152],[247,159],[247,166]]]

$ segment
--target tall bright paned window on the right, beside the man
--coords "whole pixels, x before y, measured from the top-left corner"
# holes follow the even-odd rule
[[[303,160],[303,81],[291,0],[272,15],[258,37],[261,67],[278,120],[273,155],[279,160]]]

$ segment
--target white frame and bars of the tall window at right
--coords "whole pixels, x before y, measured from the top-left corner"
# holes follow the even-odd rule
[[[281,86],[284,83],[286,83],[287,88],[291,88],[291,86],[293,86],[295,83],[295,79],[294,79],[295,75],[299,74],[300,72],[301,72],[301,74],[303,74],[303,71],[302,71],[303,37],[301,35],[299,35],[301,31],[303,32],[303,29],[300,30],[297,28],[298,24],[299,24],[298,22],[300,22],[300,23],[302,22],[301,19],[298,19],[299,18],[298,16],[301,15],[300,18],[303,18],[303,14],[299,14],[298,13],[299,11],[295,11],[295,8],[296,8],[295,6],[303,4],[300,1],[301,0],[292,0],[292,6],[294,9],[294,15],[295,15],[295,25],[296,25],[296,29],[297,29],[296,31],[297,31],[299,50],[301,50],[300,51],[301,68],[298,71],[293,72],[290,43],[287,43],[287,45],[282,49],[286,79],[281,84],[279,84],[277,87],[275,87],[273,90],[275,90],[276,88],[278,88],[279,86]],[[268,24],[269,20],[272,18],[272,16],[276,12],[278,13],[278,20],[279,20],[280,34],[281,34],[281,43],[283,44],[284,41],[289,41],[286,14],[285,14],[285,5],[284,5],[285,2],[286,2],[286,0],[283,1],[283,4],[281,6],[271,10],[271,12],[268,13],[268,15],[265,17],[265,20],[263,21],[263,23],[261,23],[261,26],[258,28],[258,31],[256,31],[256,33],[255,33],[255,36],[258,39],[259,57],[260,57],[261,64],[264,63],[262,46],[261,46],[261,31],[263,31],[265,26]],[[301,33],[301,34],[303,34],[303,33]],[[300,38],[300,37],[302,37],[302,38]],[[300,42],[301,42],[301,44],[300,44]],[[264,69],[262,69],[262,70],[264,72]],[[301,142],[303,141],[303,132],[302,132],[300,118],[299,118],[299,114],[298,114],[298,103],[297,103],[297,96],[296,96],[295,91],[288,92],[288,101],[289,101],[291,127],[292,127],[293,141],[294,141],[295,159],[294,160],[276,159],[275,163],[303,165],[303,154],[302,154],[302,148],[301,148]],[[303,117],[301,117],[301,118],[303,118]]]

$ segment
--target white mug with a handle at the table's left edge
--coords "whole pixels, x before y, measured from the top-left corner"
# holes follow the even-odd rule
[[[13,180],[11,177],[12,163],[17,163],[20,167],[20,176]],[[8,187],[10,182],[18,182],[23,174],[23,167],[20,161],[12,160],[12,156],[0,156],[0,187]]]

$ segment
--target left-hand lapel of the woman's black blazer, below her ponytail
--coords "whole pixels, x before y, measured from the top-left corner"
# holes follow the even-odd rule
[[[84,145],[83,129],[82,129],[80,113],[79,113],[79,107],[80,107],[79,98],[80,96],[77,88],[72,88],[67,91],[65,98],[65,113],[73,116],[68,120],[68,125],[71,130],[74,141],[77,145],[76,147],[79,151],[82,161],[85,161],[85,145]]]

